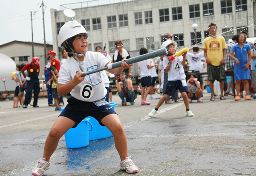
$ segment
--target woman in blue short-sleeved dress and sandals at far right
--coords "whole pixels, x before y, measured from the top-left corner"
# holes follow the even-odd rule
[[[250,51],[251,50],[250,45],[245,44],[244,40],[245,40],[244,34],[239,33],[236,36],[236,41],[238,42],[238,44],[235,44],[229,53],[229,57],[235,60],[235,63],[236,63],[234,65],[234,74],[235,74],[236,92],[237,92],[237,96],[235,100],[241,100],[241,97],[239,96],[239,91],[240,91],[240,82],[242,80],[244,82],[244,88],[246,92],[245,100],[251,100],[248,94],[249,93],[248,80],[251,79],[249,64],[252,58],[252,53]],[[235,53],[236,55],[233,56],[233,53]],[[249,55],[248,60],[247,60],[247,53]]]

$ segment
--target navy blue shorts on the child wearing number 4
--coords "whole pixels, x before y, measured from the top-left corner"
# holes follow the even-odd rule
[[[184,82],[186,82],[185,79],[184,79]],[[183,85],[181,80],[168,81],[167,84],[166,84],[166,89],[164,91],[164,94],[174,95],[176,90],[180,90],[180,93],[187,92],[187,94],[188,94],[187,83],[186,83],[186,85],[185,84]]]

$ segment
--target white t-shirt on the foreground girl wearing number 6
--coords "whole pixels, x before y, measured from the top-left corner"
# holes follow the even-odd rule
[[[84,72],[90,72],[99,68],[104,68],[108,62],[110,62],[109,59],[101,53],[88,51],[84,55],[84,60],[80,62],[80,64]],[[76,71],[80,71],[79,63],[73,57],[68,58],[60,67],[58,84],[67,84],[70,82],[74,78]],[[80,89],[86,83],[91,84],[94,90],[94,94],[92,98],[87,100],[88,102],[101,100],[106,96],[107,90],[104,86],[101,72],[86,75],[84,80],[72,89],[70,92],[71,96],[78,100],[85,101],[80,96]]]

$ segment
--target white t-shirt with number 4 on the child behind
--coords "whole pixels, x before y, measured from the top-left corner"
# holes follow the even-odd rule
[[[184,68],[181,64],[182,61],[183,61],[183,56],[176,57],[172,61],[172,65],[170,67],[170,70],[168,71],[168,81],[177,81],[177,80],[182,80],[186,78]],[[164,69],[166,69],[166,67],[169,64],[169,60],[167,56],[164,56],[163,63],[164,63]]]

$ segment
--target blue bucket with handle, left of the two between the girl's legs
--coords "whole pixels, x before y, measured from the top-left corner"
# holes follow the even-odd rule
[[[90,118],[85,118],[76,126],[65,133],[66,146],[68,148],[82,148],[89,145],[89,131],[93,129]],[[88,123],[91,125],[89,129]]]

